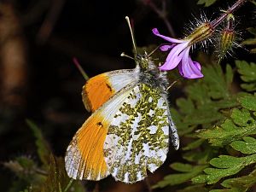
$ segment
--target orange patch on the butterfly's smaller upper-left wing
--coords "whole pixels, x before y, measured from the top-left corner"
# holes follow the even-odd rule
[[[103,73],[89,79],[82,90],[82,99],[86,110],[94,112],[104,102],[107,102],[114,93],[115,90],[113,90],[106,74]]]

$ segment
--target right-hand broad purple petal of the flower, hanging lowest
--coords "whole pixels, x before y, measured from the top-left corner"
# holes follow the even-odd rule
[[[183,59],[178,66],[179,73],[187,79],[198,79],[204,75],[201,73],[201,65],[199,62],[192,61],[189,56],[189,49],[185,50]]]

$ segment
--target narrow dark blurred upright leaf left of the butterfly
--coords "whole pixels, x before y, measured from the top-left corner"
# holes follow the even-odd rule
[[[38,156],[40,160],[44,163],[44,166],[49,166],[49,154],[51,153],[49,144],[44,139],[43,134],[37,125],[28,119],[26,119],[26,124],[32,130],[34,137],[36,137],[36,146],[38,148]]]

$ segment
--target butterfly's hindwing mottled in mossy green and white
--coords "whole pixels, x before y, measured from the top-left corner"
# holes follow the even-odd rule
[[[166,160],[169,119],[160,90],[137,84],[115,114],[104,143],[108,171],[119,181],[135,183]]]

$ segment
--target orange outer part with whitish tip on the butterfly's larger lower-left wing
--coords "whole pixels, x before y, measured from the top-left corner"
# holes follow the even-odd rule
[[[85,121],[67,148],[65,161],[69,177],[99,180],[108,176],[103,144],[109,124],[101,115]]]

